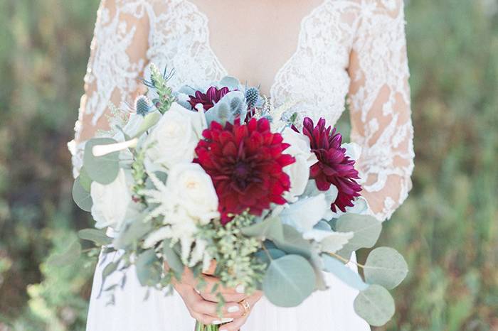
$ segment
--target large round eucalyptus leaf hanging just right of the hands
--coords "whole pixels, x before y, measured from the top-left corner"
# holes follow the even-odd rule
[[[311,264],[299,255],[272,260],[263,279],[268,300],[280,307],[295,307],[314,290],[316,278]]]

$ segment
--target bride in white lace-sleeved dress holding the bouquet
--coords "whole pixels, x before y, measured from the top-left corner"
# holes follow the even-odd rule
[[[372,215],[387,219],[406,199],[413,170],[404,25],[403,0],[102,0],[70,143],[75,174],[85,140],[107,129],[109,103],[132,103],[144,92],[139,77],[149,77],[155,63],[174,68],[174,88],[231,75],[260,85],[275,106],[293,100],[292,112],[329,124],[348,95],[351,141],[362,147],[362,195]],[[113,256],[100,259],[88,331],[192,331],[194,318],[228,322],[226,331],[370,330],[354,313],[356,292],[331,275],[328,291],[296,308],[228,290],[221,320],[213,295],[195,291],[189,275],[173,295],[152,291],[146,298],[131,269],[107,305],[98,289]]]

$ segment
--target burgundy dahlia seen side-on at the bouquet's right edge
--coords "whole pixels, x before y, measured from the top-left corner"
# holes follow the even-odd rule
[[[311,149],[318,158],[311,167],[311,177],[316,180],[319,190],[329,190],[331,184],[337,187],[339,192],[330,208],[333,212],[337,211],[336,207],[345,212],[346,206],[352,207],[354,197],[359,197],[361,191],[356,182],[359,175],[354,169],[354,160],[346,156],[346,148],[341,148],[341,134],[331,126],[326,128],[324,119],[319,119],[314,126],[312,119],[306,117],[302,126],[302,133],[309,137]]]

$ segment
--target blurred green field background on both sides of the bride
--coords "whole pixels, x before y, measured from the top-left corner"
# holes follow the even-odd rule
[[[84,330],[92,260],[45,262],[91,224],[66,142],[98,2],[0,0],[0,331]],[[378,330],[497,331],[498,2],[412,0],[406,16],[414,186],[381,244],[411,272]]]

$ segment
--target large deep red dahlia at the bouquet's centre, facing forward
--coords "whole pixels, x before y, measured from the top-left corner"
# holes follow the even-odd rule
[[[282,205],[282,194],[290,189],[290,178],[282,170],[295,159],[282,152],[289,147],[280,134],[270,131],[267,119],[250,119],[247,124],[212,121],[196,147],[196,162],[213,180],[222,222],[229,214],[261,215],[270,203]]]

